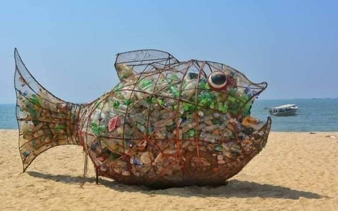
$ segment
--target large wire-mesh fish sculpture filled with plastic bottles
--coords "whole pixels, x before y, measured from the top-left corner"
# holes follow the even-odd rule
[[[15,49],[23,171],[59,145],[83,147],[96,176],[158,188],[223,185],[265,146],[271,119],[250,116],[267,83],[216,62],[179,62],[159,50],[117,54],[120,82],[89,103],[62,100]]]

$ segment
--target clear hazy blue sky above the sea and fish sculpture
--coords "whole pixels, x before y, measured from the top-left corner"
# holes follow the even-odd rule
[[[2,1],[0,103],[14,48],[50,92],[87,102],[118,81],[115,54],[160,49],[228,64],[262,99],[338,97],[337,1]]]

